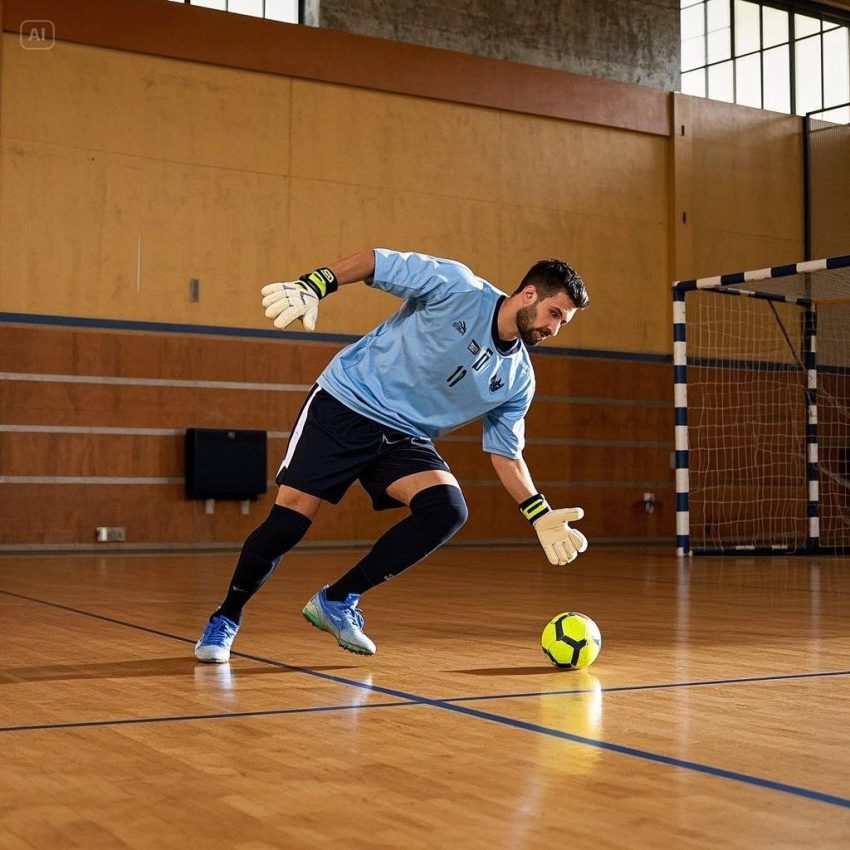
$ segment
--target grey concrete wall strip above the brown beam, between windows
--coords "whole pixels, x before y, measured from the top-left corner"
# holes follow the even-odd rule
[[[668,90],[679,0],[310,0],[307,23]]]

